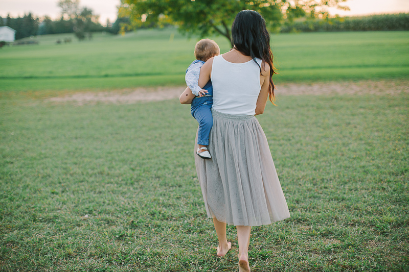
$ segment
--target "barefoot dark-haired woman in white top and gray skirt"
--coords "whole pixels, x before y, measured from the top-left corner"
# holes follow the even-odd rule
[[[251,227],[290,215],[267,139],[254,117],[264,112],[268,96],[271,102],[275,98],[271,79],[275,72],[264,18],[251,10],[239,12],[232,39],[230,52],[209,59],[200,70],[199,86],[209,80],[213,84],[212,159],[195,156],[195,164],[206,211],[219,239],[217,256],[231,248],[226,224],[235,225],[239,271],[249,271]],[[190,94],[187,88],[180,103],[191,103]]]

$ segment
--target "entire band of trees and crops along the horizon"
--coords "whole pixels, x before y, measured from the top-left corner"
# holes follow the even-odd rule
[[[75,33],[82,40],[86,36],[90,37],[92,32],[118,34],[134,29],[172,25],[183,33],[201,37],[219,34],[231,40],[230,27],[235,14],[243,9],[252,9],[263,15],[271,32],[409,30],[409,14],[331,18],[323,9],[348,9],[340,6],[345,1],[330,0],[321,4],[298,1],[293,5],[286,0],[202,0],[186,3],[178,0],[121,0],[117,20],[113,24],[107,21],[107,26],[103,27],[99,16],[92,9],[80,7],[79,0],[59,0],[61,17],[57,20],[48,16],[36,18],[31,13],[17,18],[8,15],[7,18],[0,17],[0,27],[8,26],[16,30],[16,39]]]

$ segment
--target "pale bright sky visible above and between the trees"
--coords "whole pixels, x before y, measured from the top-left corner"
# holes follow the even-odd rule
[[[31,12],[36,17],[48,15],[57,19],[60,17],[57,2],[58,0],[0,0],[0,16],[6,17],[10,13],[11,17],[18,17]],[[100,16],[100,22],[104,26],[106,19],[115,22],[119,4],[120,0],[80,0],[80,6],[92,9],[94,14]],[[329,13],[339,16],[409,13],[409,0],[348,0],[344,5],[350,10],[329,9]]]

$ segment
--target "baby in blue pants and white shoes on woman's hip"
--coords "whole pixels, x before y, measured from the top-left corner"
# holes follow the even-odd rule
[[[210,58],[220,55],[220,48],[217,43],[210,39],[202,39],[196,43],[195,58],[186,70],[186,85],[192,93],[196,95],[192,100],[190,113],[199,122],[199,131],[197,135],[196,154],[202,159],[211,159],[207,149],[209,145],[209,134],[213,126],[212,105],[213,105],[213,87],[209,81],[203,88],[198,85],[200,68]]]

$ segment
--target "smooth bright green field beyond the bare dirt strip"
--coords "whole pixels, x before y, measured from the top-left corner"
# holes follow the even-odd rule
[[[91,41],[72,37],[70,44],[55,43],[70,35],[40,36],[39,45],[4,47],[0,90],[183,85],[198,40],[171,28],[125,36],[95,34]],[[225,38],[214,39],[222,53],[229,50]],[[276,82],[404,79],[409,73],[407,31],[275,34],[271,45],[279,68]]]

